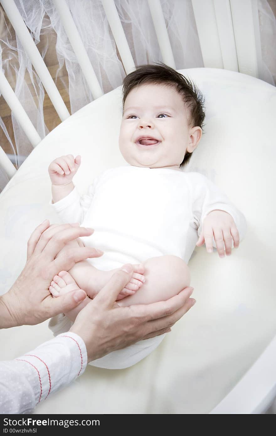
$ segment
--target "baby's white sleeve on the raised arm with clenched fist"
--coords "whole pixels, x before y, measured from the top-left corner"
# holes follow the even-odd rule
[[[70,194],[56,203],[53,204],[51,200],[50,204],[61,217],[63,222],[78,222],[79,224],[82,224],[84,216],[94,197],[97,183],[96,180],[89,186],[87,194],[83,197],[80,196],[76,187],[74,187]]]

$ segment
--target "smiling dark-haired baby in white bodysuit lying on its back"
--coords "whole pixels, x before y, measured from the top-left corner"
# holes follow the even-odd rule
[[[206,177],[181,170],[201,139],[203,103],[197,87],[174,69],[142,65],[123,81],[119,149],[129,166],[105,171],[81,198],[72,183],[81,157],[62,156],[50,164],[55,210],[64,222],[94,228],[92,236],[68,245],[100,249],[97,259],[78,262],[53,278],[49,290],[55,297],[78,287],[88,295],[77,309],[50,321],[55,334],[70,328],[79,310],[125,263],[132,263],[134,272],[118,304],[148,304],[190,285],[187,263],[195,245],[205,242],[208,252],[214,246],[220,257],[239,246],[246,229],[242,213]],[[126,368],[163,337],[114,351],[92,365]]]

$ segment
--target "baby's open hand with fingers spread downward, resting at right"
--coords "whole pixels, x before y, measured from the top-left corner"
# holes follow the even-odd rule
[[[218,250],[219,257],[231,255],[232,239],[234,240],[234,248],[239,247],[239,231],[230,214],[225,211],[211,211],[203,221],[201,235],[196,245],[200,247],[204,244],[208,253],[213,251],[213,235]],[[225,245],[225,253],[224,253]]]

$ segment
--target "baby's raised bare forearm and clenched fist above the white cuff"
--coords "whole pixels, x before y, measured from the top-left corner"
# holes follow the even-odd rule
[[[72,154],[61,156],[53,160],[49,165],[48,172],[52,182],[52,198],[56,203],[62,198],[67,197],[74,189],[72,182],[78,168],[81,164],[81,157],[78,155],[75,159]]]

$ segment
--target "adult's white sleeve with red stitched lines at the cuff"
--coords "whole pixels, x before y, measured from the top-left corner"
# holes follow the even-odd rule
[[[0,362],[0,413],[31,413],[87,365],[82,338],[66,332],[12,361]]]

